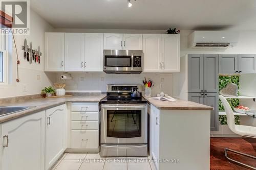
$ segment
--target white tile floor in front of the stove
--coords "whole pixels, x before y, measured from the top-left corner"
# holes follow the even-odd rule
[[[148,157],[101,158],[98,153],[65,153],[51,170],[155,170]]]

